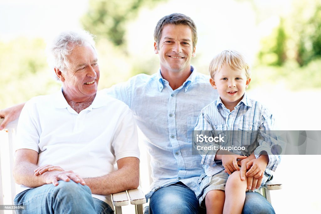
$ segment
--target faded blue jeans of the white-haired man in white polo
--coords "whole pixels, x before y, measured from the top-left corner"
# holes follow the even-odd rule
[[[58,186],[45,184],[17,194],[14,204],[26,209],[16,213],[114,213],[107,203],[91,196],[88,186],[58,182]]]

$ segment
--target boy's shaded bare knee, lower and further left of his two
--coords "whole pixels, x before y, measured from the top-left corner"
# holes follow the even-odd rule
[[[205,196],[206,214],[223,213],[225,193],[223,190],[211,190]]]

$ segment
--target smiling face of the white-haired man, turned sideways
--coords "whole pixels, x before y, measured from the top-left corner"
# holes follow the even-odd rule
[[[95,50],[76,46],[67,60],[69,66],[61,79],[65,98],[78,102],[91,98],[97,92],[100,76]]]

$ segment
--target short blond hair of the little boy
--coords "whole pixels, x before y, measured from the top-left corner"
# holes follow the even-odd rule
[[[245,69],[247,80],[251,77],[250,66],[246,62],[245,56],[235,50],[224,50],[216,55],[210,63],[209,72],[213,79],[214,74],[220,71],[224,64],[232,70]]]

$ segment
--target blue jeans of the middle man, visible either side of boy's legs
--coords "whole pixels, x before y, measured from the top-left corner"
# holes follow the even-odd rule
[[[148,213],[145,209],[145,213]],[[199,207],[195,193],[181,182],[162,187],[152,194],[149,214],[206,213]],[[247,192],[242,214],[273,214],[272,205],[260,193]]]

